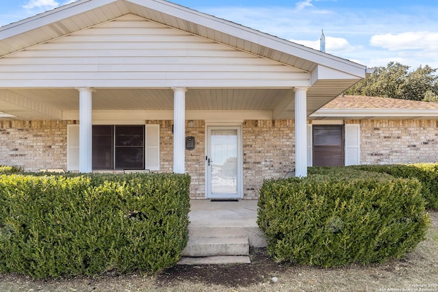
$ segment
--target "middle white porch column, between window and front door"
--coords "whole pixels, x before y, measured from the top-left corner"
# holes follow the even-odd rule
[[[185,92],[172,88],[173,94],[173,172],[185,173]]]

